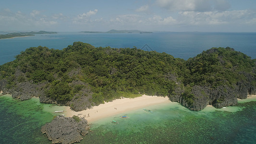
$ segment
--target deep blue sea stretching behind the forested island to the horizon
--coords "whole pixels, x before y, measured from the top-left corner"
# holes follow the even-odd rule
[[[175,58],[195,57],[212,47],[231,47],[256,59],[256,33],[201,33],[201,32],[156,32],[100,33],[60,32],[27,37],[0,39],[0,65],[14,60],[26,48],[46,46],[62,49],[75,41],[89,43],[95,47],[143,48],[146,44],[157,52],[166,52]],[[144,48],[146,50],[147,47]],[[150,50],[150,48],[148,48]]]

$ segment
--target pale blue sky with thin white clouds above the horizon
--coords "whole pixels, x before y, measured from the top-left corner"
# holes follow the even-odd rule
[[[1,0],[0,31],[256,32],[256,0]]]

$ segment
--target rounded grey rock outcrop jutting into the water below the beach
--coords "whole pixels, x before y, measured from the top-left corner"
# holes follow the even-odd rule
[[[64,117],[57,116],[50,123],[41,128],[41,132],[46,133],[52,144],[72,144],[80,142],[90,129],[85,118],[77,116]]]

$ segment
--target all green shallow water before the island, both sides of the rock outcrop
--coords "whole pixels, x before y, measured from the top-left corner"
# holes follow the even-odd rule
[[[250,100],[199,112],[178,103],[147,107],[151,113],[133,110],[93,122],[81,144],[255,144],[256,97]],[[52,111],[63,108],[11,96],[0,96],[0,106],[1,144],[50,144],[40,128],[53,119]]]

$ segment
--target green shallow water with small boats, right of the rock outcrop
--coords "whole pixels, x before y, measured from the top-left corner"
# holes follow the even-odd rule
[[[148,107],[96,121],[82,144],[254,144],[256,99],[235,107],[199,112],[178,103]],[[117,120],[119,124],[112,124]]]

